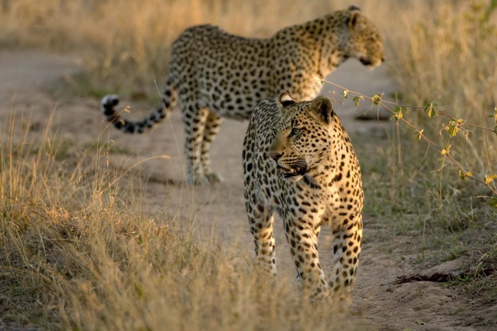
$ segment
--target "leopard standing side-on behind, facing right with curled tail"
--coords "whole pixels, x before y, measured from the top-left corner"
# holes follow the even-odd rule
[[[107,120],[124,132],[143,132],[179,104],[185,129],[186,176],[190,184],[220,179],[209,148],[221,117],[248,119],[259,101],[288,92],[314,99],[315,74],[329,75],[349,57],[368,67],[381,64],[383,43],[377,28],[357,7],[338,10],[289,26],[268,39],[228,34],[212,25],[185,30],[172,45],[161,105],[145,119],[122,119],[117,96],[102,99]]]

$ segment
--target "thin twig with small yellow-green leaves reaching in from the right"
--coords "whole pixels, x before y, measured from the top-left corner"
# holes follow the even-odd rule
[[[383,100],[383,94],[381,94],[381,95],[376,94],[373,97],[369,97],[369,96],[360,94],[358,92],[351,91],[351,90],[346,89],[338,84],[331,83],[331,82],[326,81],[326,80],[323,80],[322,82],[331,84],[331,85],[341,89],[342,90],[341,94],[344,97],[344,99],[348,99],[349,96],[352,96],[352,101],[354,102],[354,105],[357,108],[359,108],[359,105],[362,101],[369,101],[372,103],[371,107],[378,106],[378,110],[380,109],[380,107],[383,107],[386,110],[389,110],[392,113],[392,118],[395,118],[395,120],[397,120],[397,121],[403,121],[408,126],[413,128],[414,131],[416,132],[419,140],[421,138],[424,139],[428,143],[429,146],[433,146],[440,151],[440,153],[443,155],[442,167],[443,167],[443,163],[445,162],[445,159],[447,158],[453,164],[455,164],[457,166],[457,168],[459,170],[459,177],[462,180],[466,180],[468,178],[471,178],[472,180],[487,186],[495,195],[494,197],[490,197],[490,200],[488,203],[491,206],[497,207],[497,191],[494,187],[491,186],[491,183],[494,181],[494,179],[497,179],[497,175],[496,174],[488,174],[487,176],[485,176],[485,178],[483,180],[476,178],[475,176],[473,176],[473,174],[470,171],[467,171],[466,169],[464,169],[464,167],[457,160],[455,160],[452,157],[452,155],[450,154],[451,145],[449,144],[450,139],[453,136],[456,136],[457,134],[459,134],[460,132],[463,133],[463,135],[465,136],[466,139],[468,139],[470,131],[468,129],[466,129],[466,126],[477,127],[479,129],[493,132],[494,134],[497,135],[497,107],[494,109],[494,114],[489,115],[489,117],[493,117],[495,120],[495,128],[492,129],[492,128],[488,128],[485,126],[481,126],[481,125],[477,125],[477,124],[473,124],[473,123],[468,123],[464,119],[455,118],[455,117],[453,117],[453,116],[451,116],[451,115],[449,115],[441,110],[438,110],[438,104],[435,102],[427,103],[424,107],[402,105],[402,104],[398,104],[395,102]],[[411,123],[409,120],[407,120],[405,118],[404,114],[406,114],[408,112],[408,109],[423,110],[426,113],[426,115],[430,118],[435,117],[436,115],[441,115],[441,116],[448,118],[449,119],[448,122],[442,124],[442,130],[446,130],[449,134],[449,139],[447,141],[447,144],[443,147],[439,146],[432,139],[430,139],[429,137],[427,137],[424,134],[424,129],[419,129],[419,128],[415,127],[413,123]],[[439,170],[441,170],[441,168]]]

